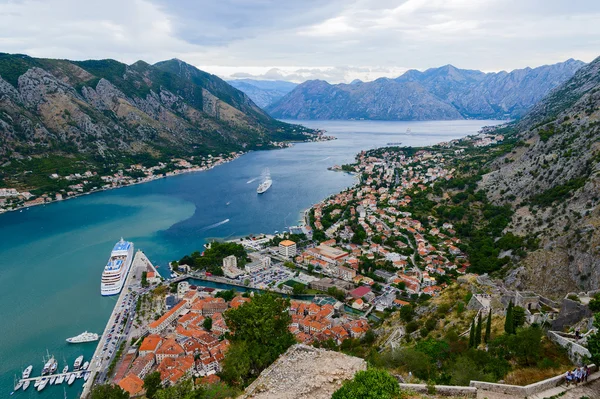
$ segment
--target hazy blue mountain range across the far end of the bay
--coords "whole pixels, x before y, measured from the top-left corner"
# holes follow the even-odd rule
[[[516,118],[584,65],[484,73],[452,65],[409,70],[396,79],[330,85],[305,82],[267,107],[276,118],[432,120]]]

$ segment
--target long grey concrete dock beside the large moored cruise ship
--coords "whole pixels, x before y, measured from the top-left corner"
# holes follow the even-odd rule
[[[94,352],[94,355],[92,356],[92,358],[89,360],[90,366],[88,368],[88,371],[91,374],[90,374],[90,378],[88,379],[88,381],[83,385],[83,392],[81,394],[82,399],[87,398],[90,395],[90,393],[92,391],[92,386],[94,385],[94,382],[98,382],[98,383],[102,384],[102,383],[104,383],[104,379],[107,377],[106,372],[108,370],[108,366],[110,365],[113,357],[115,356],[117,349],[119,348],[119,345],[121,344],[123,338],[127,335],[127,330],[128,330],[127,323],[129,323],[129,321],[132,320],[132,318],[134,317],[134,313],[135,313],[136,301],[132,301],[132,306],[127,307],[125,297],[130,292],[135,291],[134,289],[131,289],[131,288],[132,288],[132,284],[134,284],[136,282],[136,280],[138,280],[137,281],[138,284],[136,285],[136,287],[140,286],[139,280],[141,279],[142,272],[146,270],[147,263],[150,263],[150,261],[148,260],[146,255],[142,251],[138,250],[135,253],[133,262],[131,263],[131,269],[129,270],[129,274],[127,275],[127,280],[125,280],[125,283],[123,284],[123,288],[121,290],[121,293],[119,294],[117,303],[115,303],[115,307],[113,309],[112,314],[110,315],[110,317],[108,319],[108,322],[106,323],[106,327],[104,328],[102,337],[100,337],[100,340],[98,341],[98,346],[96,347],[96,351]],[[121,307],[121,305],[124,305],[124,306]],[[106,353],[103,353],[102,349],[104,348],[104,345],[107,342],[108,334],[110,333],[111,328],[115,325],[115,319],[117,317],[117,314],[120,314],[124,310],[129,310],[129,312],[127,314],[127,319],[125,320],[125,323],[123,323],[124,333],[121,335],[121,334],[117,334],[117,332],[115,331],[115,333],[113,334],[113,337],[112,337],[112,339],[116,341],[115,345],[114,345],[114,351],[110,356],[106,356]],[[123,320],[121,320],[121,321],[123,321]],[[98,380],[98,381],[96,381],[96,380]]]

